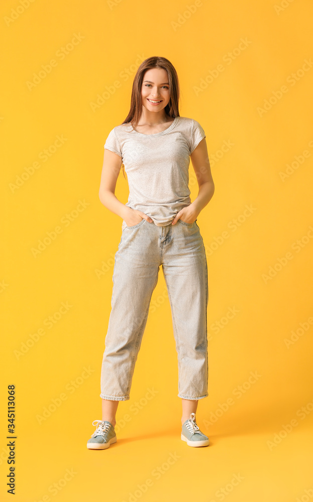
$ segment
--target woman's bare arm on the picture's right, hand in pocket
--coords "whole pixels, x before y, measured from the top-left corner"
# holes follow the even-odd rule
[[[186,223],[193,223],[203,207],[210,202],[215,191],[205,138],[193,150],[190,159],[199,186],[198,195],[189,206],[178,211],[172,224],[180,218]]]

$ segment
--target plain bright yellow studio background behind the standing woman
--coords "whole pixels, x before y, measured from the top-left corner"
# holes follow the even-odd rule
[[[310,499],[313,67],[304,61],[313,56],[311,2],[27,4],[0,7],[1,500],[12,499],[11,384],[19,502]],[[75,34],[79,43],[61,59],[58,51]],[[118,442],[94,451],[86,442],[101,419],[100,365],[122,225],[98,198],[103,145],[128,114],[139,56],[155,55],[177,70],[180,115],[203,127],[216,186],[197,219],[209,276],[209,396],[198,403],[197,423],[211,444],[190,448],[180,439],[177,354],[160,274],[131,399],[119,405]],[[56,66],[30,89],[51,59]],[[92,110],[107,88],[109,98]],[[64,144],[53,149],[58,135]],[[36,161],[40,167],[12,189]],[[127,202],[122,173],[116,195]],[[79,201],[85,207],[75,212]],[[32,248],[58,225],[61,232],[35,257]],[[61,315],[62,302],[71,307]],[[44,324],[49,316],[52,328]],[[45,333],[19,355],[40,328]],[[249,383],[251,372],[259,376]],[[40,421],[53,400],[59,406]],[[64,482],[67,470],[72,477]]]

